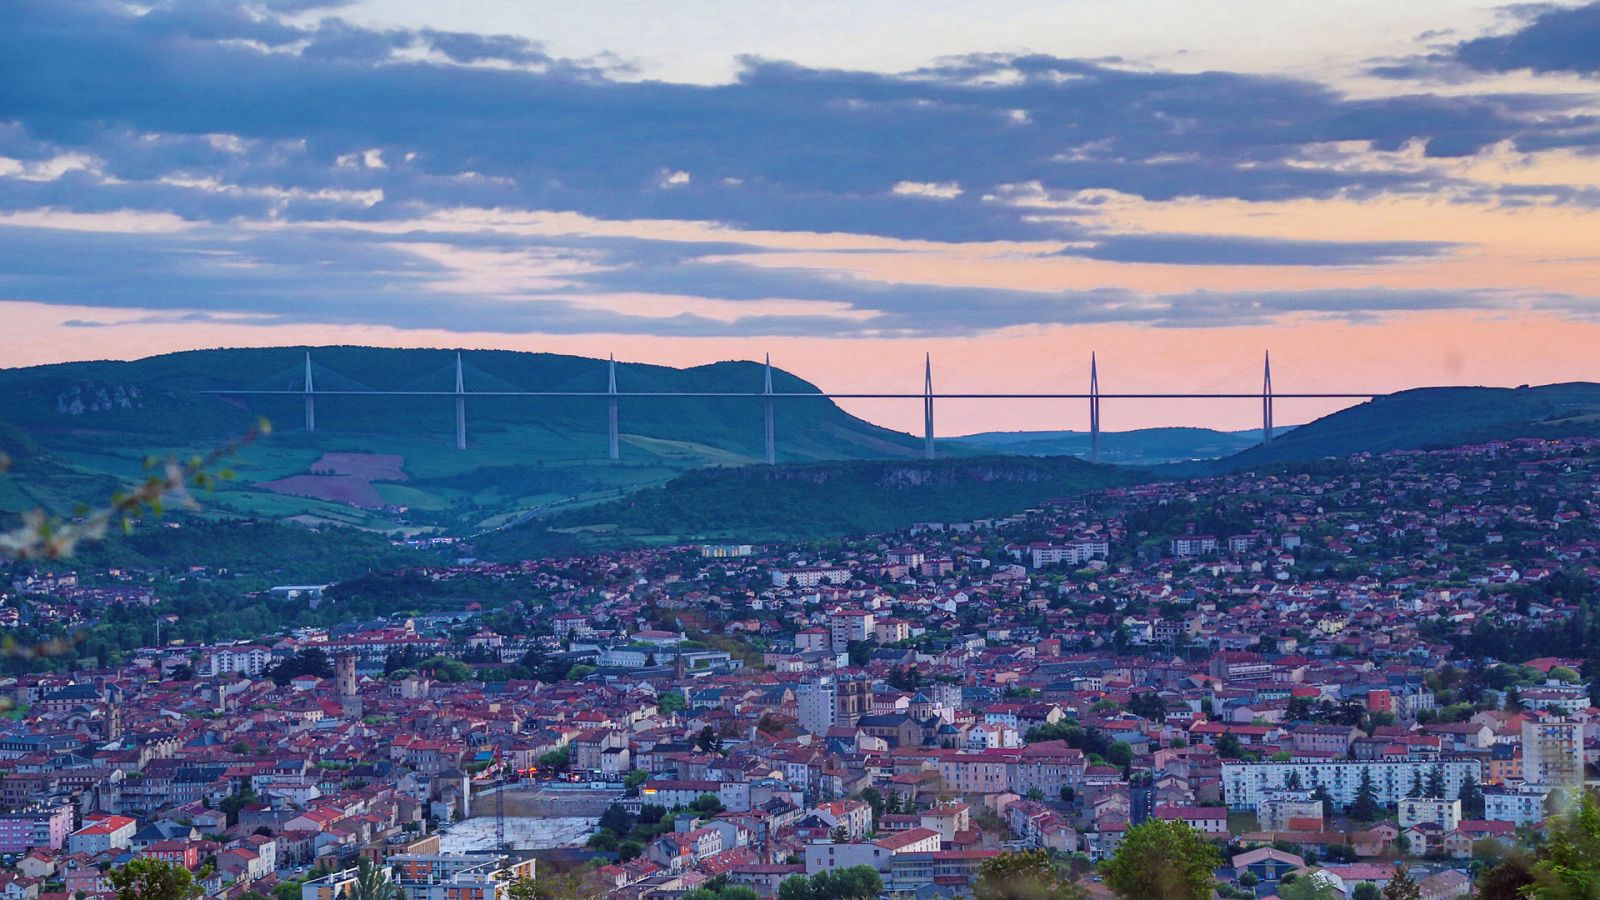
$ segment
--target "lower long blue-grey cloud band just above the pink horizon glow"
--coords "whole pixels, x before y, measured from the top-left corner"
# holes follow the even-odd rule
[[[406,243],[528,250],[570,255],[605,267],[565,277],[565,285],[501,296],[442,288],[453,272],[408,253]],[[240,235],[80,234],[6,229],[0,242],[0,296],[43,303],[90,303],[154,311],[157,322],[243,320],[245,323],[365,323],[493,333],[659,335],[971,335],[1011,325],[1134,322],[1157,327],[1267,323],[1288,314],[1360,320],[1424,309],[1518,309],[1526,298],[1498,291],[1310,290],[1187,291],[1139,295],[1106,288],[1024,291],[910,285],[822,274],[814,269],[750,266],[755,248],[726,243],[678,245],[638,239],[522,240],[502,235],[411,234],[373,240],[349,231],[275,231]],[[707,261],[709,251],[733,259]],[[696,314],[630,315],[586,306],[597,293],[667,293],[720,301],[827,301],[872,312],[864,320],[813,312],[758,312],[733,322]],[[1541,298],[1544,304],[1579,298]],[[448,311],[448,315],[445,314]],[[240,317],[245,319],[240,319]],[[80,327],[93,327],[80,320]]]

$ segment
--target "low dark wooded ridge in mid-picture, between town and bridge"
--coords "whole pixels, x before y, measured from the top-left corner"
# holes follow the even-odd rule
[[[1005,516],[1144,477],[1070,456],[701,469],[622,500],[483,535],[474,546],[486,557],[510,559],[651,543],[810,541]]]

